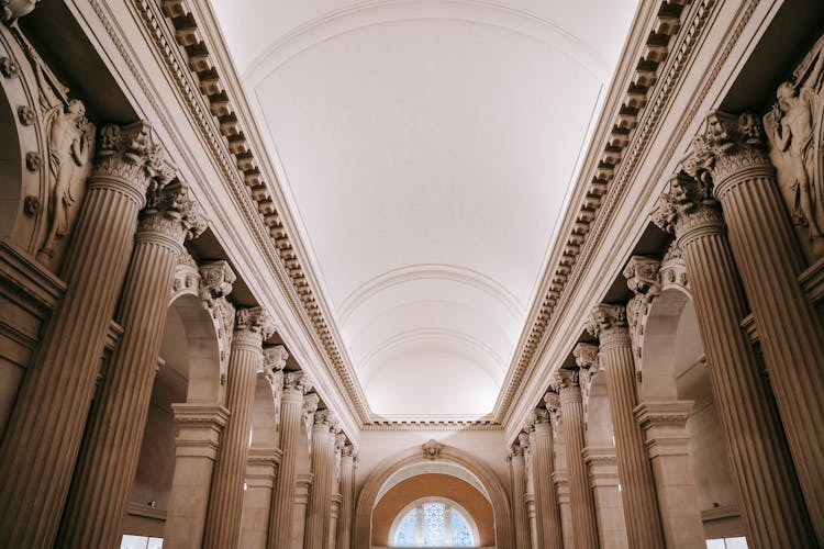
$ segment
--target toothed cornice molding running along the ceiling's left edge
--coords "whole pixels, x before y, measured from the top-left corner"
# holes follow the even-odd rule
[[[120,43],[98,1],[91,0],[91,4],[110,37]],[[329,307],[311,288],[296,250],[300,246],[287,234],[283,212],[278,210],[267,184],[266,167],[255,156],[254,150],[261,147],[246,137],[243,116],[238,116],[233,108],[233,103],[243,101],[243,98],[230,96],[234,93],[224,86],[221,74],[225,67],[219,67],[210,55],[209,48],[221,38],[199,27],[194,12],[185,0],[133,0],[133,5],[172,76],[209,152],[218,160],[225,182],[249,222],[248,226],[255,233],[276,280],[298,316],[307,323],[307,332],[316,339],[320,354],[329,360],[330,380],[338,384],[350,403],[347,405],[353,406],[360,422],[368,421],[370,411],[363,389],[352,373],[345,351],[341,350],[343,347],[336,328],[326,322]],[[129,59],[122,43],[119,47],[123,48],[123,57]],[[137,76],[136,68],[131,68]],[[148,90],[145,91],[151,96]],[[276,181],[275,177],[269,180]]]

